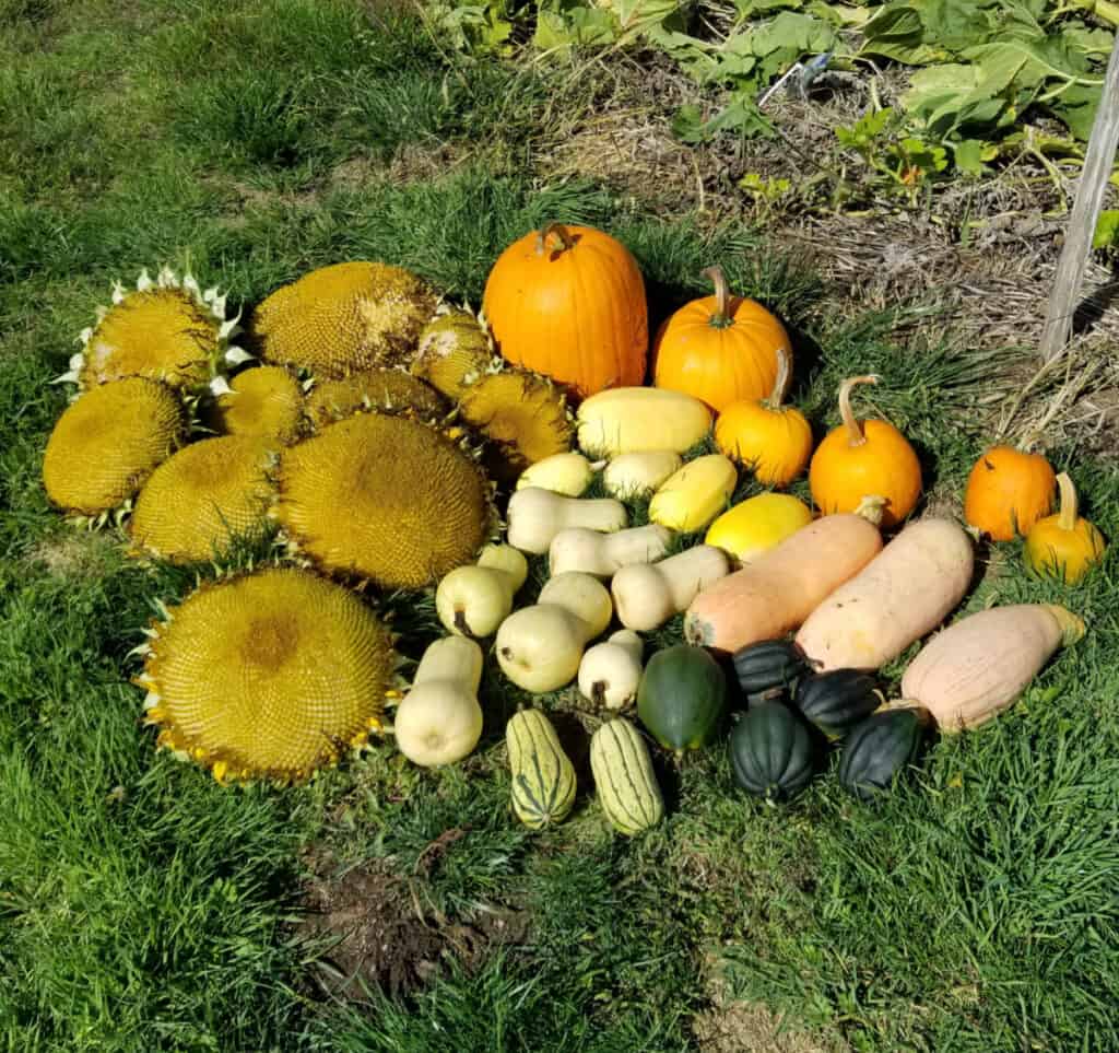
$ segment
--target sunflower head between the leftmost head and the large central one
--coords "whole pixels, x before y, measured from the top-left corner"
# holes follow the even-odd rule
[[[219,557],[264,521],[274,487],[269,450],[252,436],[220,436],[186,446],[141,487],[130,530],[137,546],[172,562]]]

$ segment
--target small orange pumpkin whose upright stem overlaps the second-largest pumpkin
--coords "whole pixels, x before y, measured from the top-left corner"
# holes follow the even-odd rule
[[[800,410],[782,406],[789,388],[789,352],[777,352],[777,380],[768,399],[732,402],[715,421],[715,444],[767,486],[787,486],[812,455],[812,428]]]

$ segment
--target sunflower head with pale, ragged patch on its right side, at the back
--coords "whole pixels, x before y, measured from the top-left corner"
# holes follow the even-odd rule
[[[385,263],[337,263],[276,289],[250,322],[265,362],[345,376],[406,364],[435,295],[414,274]]]

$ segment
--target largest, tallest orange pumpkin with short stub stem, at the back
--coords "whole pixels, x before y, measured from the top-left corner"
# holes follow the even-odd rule
[[[515,241],[486,282],[501,355],[576,398],[645,381],[649,317],[637,261],[589,226],[549,223]]]

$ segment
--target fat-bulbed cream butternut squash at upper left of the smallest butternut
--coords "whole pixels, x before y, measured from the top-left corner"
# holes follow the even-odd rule
[[[527,491],[526,491],[527,493]],[[518,688],[539,695],[570,683],[583,650],[610,624],[605,586],[589,574],[556,575],[533,607],[509,615],[497,631],[497,660]]]

